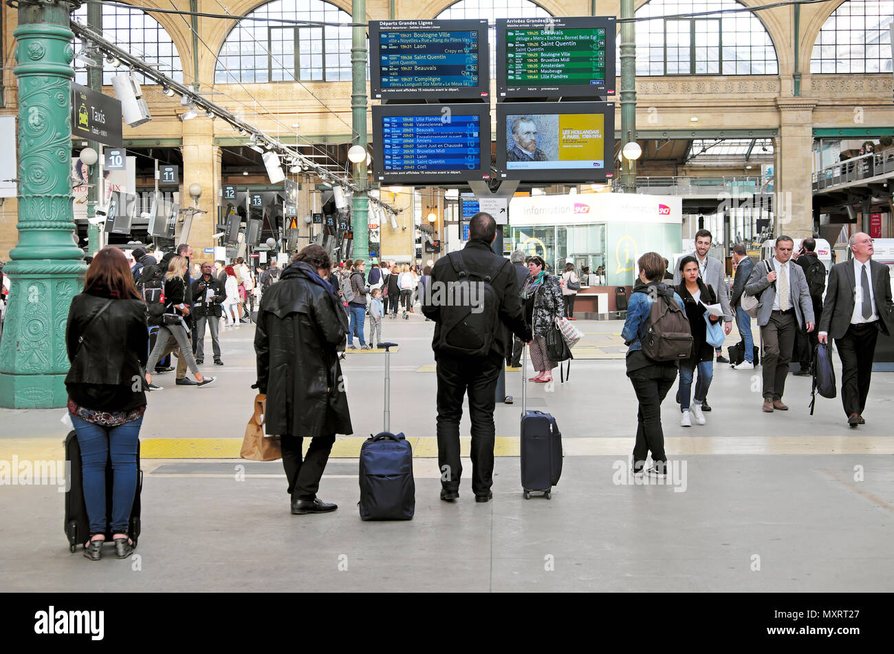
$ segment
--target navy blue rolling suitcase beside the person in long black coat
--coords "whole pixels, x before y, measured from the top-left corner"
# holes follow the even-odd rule
[[[396,343],[381,343],[385,349],[384,431],[370,436],[360,446],[360,508],[362,520],[412,520],[416,511],[416,482],[413,479],[413,448],[403,434],[392,434],[391,350]]]

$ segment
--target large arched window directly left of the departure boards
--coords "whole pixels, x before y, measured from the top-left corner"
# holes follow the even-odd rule
[[[247,16],[351,22],[350,13],[322,0],[274,0]],[[215,82],[350,81],[350,44],[350,27],[240,21],[218,54]]]

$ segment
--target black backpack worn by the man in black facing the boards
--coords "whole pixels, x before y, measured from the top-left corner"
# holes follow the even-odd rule
[[[447,255],[459,280],[449,282],[442,289],[426,287],[426,304],[438,306],[441,316],[441,334],[437,350],[468,356],[485,356],[491,350],[493,336],[500,318],[500,298],[491,282],[508,263],[500,263],[488,270],[469,269],[460,252]]]

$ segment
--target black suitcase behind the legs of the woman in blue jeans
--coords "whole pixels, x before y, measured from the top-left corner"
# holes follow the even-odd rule
[[[83,478],[80,471],[80,444],[78,435],[73,429],[64,440],[65,462],[69,464],[68,490],[65,492],[65,535],[68,537],[68,548],[74,554],[78,546],[87,542],[90,534],[90,521],[87,517],[87,505],[84,503]],[[105,464],[105,522],[112,522],[112,461]],[[139,470],[139,443],[137,445],[137,493],[133,497],[131,521],[128,525],[128,536],[137,547],[139,539],[139,493],[143,489],[143,471]],[[112,542],[112,531],[105,531],[105,540]]]

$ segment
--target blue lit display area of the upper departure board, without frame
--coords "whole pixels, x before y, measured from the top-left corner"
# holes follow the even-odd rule
[[[477,31],[383,31],[382,89],[478,86]]]

